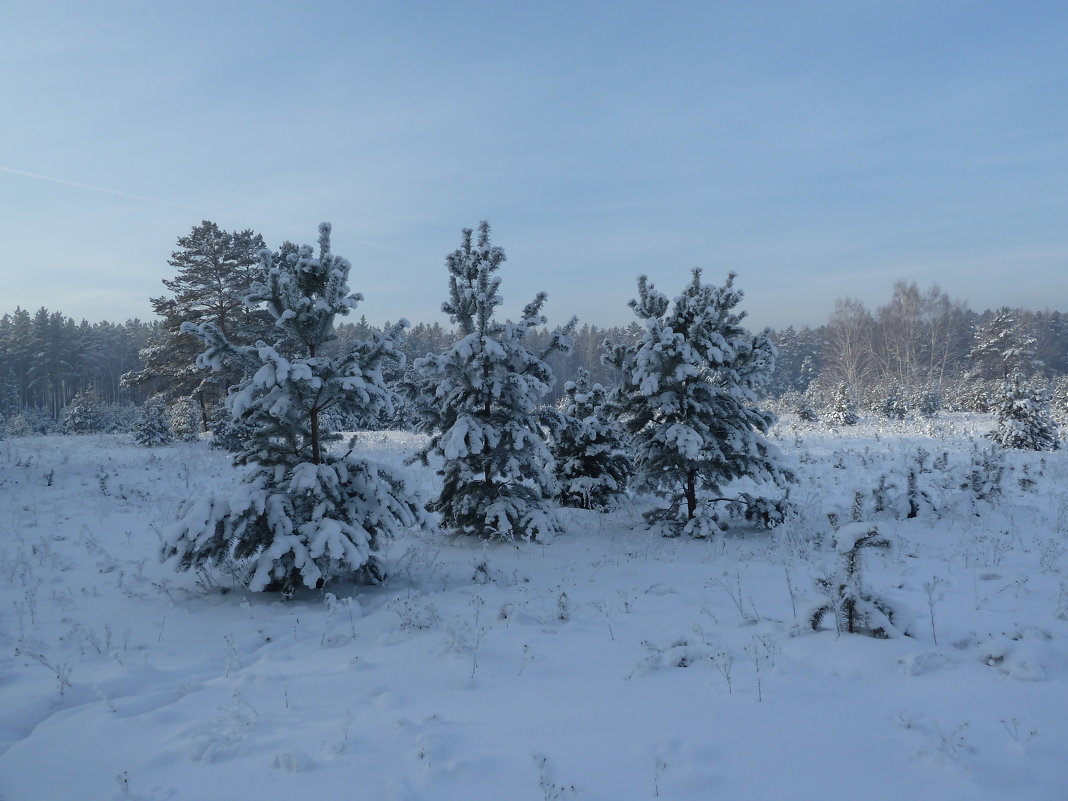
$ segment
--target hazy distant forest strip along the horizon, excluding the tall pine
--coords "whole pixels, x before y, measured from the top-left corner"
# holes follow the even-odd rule
[[[918,307],[913,301],[920,299]],[[937,303],[931,303],[937,299]],[[931,313],[931,308],[936,313]],[[913,309],[920,311],[914,314]],[[383,327],[384,328],[384,327]],[[360,339],[372,329],[365,319],[337,327],[339,340]],[[551,402],[578,370],[594,381],[614,381],[600,363],[602,343],[632,342],[640,328],[580,325],[569,355],[548,361],[556,376]],[[160,333],[160,323],[76,323],[61,312],[23,309],[0,317],[0,414],[32,418],[34,427],[62,419],[80,393],[101,403],[140,405],[153,391],[124,382],[123,376],[144,368],[141,351]],[[549,329],[531,343],[537,349]],[[544,342],[538,342],[541,340]],[[920,295],[914,286],[896,287],[894,302],[868,312],[857,301],[839,301],[830,320],[815,328],[789,326],[773,332],[779,348],[772,398],[803,393],[826,384],[847,383],[860,398],[877,395],[888,384],[902,388],[951,388],[994,380],[1010,372],[1055,380],[1068,375],[1068,315],[1014,309],[973,312],[941,295]],[[409,362],[440,354],[454,341],[451,328],[420,323],[408,331],[404,352]],[[874,399],[874,398],[873,398]]]

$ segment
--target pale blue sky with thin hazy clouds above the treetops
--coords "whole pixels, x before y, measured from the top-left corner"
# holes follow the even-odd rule
[[[0,312],[152,318],[202,220],[333,249],[444,320],[490,221],[504,315],[633,319],[738,273],[754,326],[895,281],[1068,310],[1068,3],[0,2]]]

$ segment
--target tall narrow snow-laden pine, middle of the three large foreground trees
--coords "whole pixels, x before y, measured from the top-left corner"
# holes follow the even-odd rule
[[[427,505],[461,534],[497,539],[537,539],[559,529],[551,508],[555,496],[553,460],[537,413],[552,387],[545,358],[570,347],[574,320],[535,355],[523,336],[546,324],[545,293],[523,309],[518,323],[499,323],[501,279],[496,274],[504,250],[490,245],[489,223],[478,236],[464,230],[451,253],[449,300],[442,310],[461,339],[441,356],[414,362],[406,378],[413,407],[431,431],[419,458],[442,459],[441,493]]]

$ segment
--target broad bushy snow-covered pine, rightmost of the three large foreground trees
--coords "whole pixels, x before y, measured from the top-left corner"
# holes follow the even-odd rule
[[[646,515],[664,534],[711,536],[725,525],[714,505],[721,501],[767,525],[785,512],[783,501],[720,497],[736,478],[778,486],[791,478],[764,436],[774,415],[757,406],[774,345],[767,331],[754,336],[741,326],[734,278],[710,286],[694,269],[669,311],[668,298],[642,276],[630,307],[645,331],[634,345],[610,345],[606,356],[622,373],[612,406],[631,438],[638,484],[669,501]]]

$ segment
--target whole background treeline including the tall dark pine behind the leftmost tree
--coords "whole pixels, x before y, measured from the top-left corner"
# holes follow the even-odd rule
[[[152,396],[191,406],[202,427],[209,426],[226,387],[241,376],[199,370],[200,345],[182,326],[209,321],[234,342],[247,344],[274,334],[262,312],[242,302],[258,278],[264,242],[252,231],[225,232],[204,221],[177,244],[169,262],[176,276],[163,281],[168,293],[150,299],[155,320],[76,323],[45,308],[33,313],[16,308],[0,317],[0,415],[9,429],[17,419],[23,431],[61,430],[75,398],[110,408],[111,425],[122,428],[129,418],[124,410]],[[284,242],[276,255],[295,251],[296,246]],[[679,284],[684,281],[680,272]],[[740,283],[744,288],[744,277]],[[336,333],[343,343],[362,339],[371,329],[361,317],[340,325]],[[557,402],[564,383],[580,368],[596,382],[614,383],[611,370],[601,364],[603,343],[633,342],[640,333],[637,321],[611,328],[580,323],[571,352],[547,360],[556,377],[547,402]],[[535,332],[529,337],[531,349],[537,351],[550,335],[548,328]],[[991,386],[1015,374],[1049,383],[1058,397],[1068,394],[1064,312],[975,312],[938,287],[922,290],[915,283],[895,284],[889,301],[875,310],[858,300],[838,300],[824,325],[789,326],[774,331],[772,339],[779,359],[767,395],[780,409],[826,404],[845,387],[867,408],[894,392],[913,402],[936,393],[947,408],[984,410]],[[402,348],[410,363],[442,352],[454,340],[449,327],[419,323]],[[397,363],[390,378],[398,380],[402,374]]]

